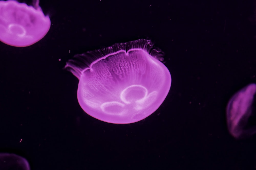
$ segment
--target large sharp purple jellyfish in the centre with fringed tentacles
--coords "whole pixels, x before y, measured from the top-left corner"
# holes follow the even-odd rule
[[[65,66],[78,79],[77,98],[92,117],[116,124],[145,119],[165,100],[171,75],[149,40],[75,55]]]

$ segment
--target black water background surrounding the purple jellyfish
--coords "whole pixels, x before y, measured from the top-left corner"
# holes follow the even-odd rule
[[[35,170],[255,169],[256,137],[233,139],[225,118],[231,95],[256,82],[255,1],[40,6],[51,19],[41,41],[0,43],[0,151],[24,156]],[[65,62],[139,38],[165,52],[172,85],[163,104],[124,125],[84,113],[78,79],[62,69]]]

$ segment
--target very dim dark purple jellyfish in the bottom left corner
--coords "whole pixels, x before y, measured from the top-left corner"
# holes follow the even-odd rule
[[[13,153],[0,153],[1,170],[30,170],[28,161]]]

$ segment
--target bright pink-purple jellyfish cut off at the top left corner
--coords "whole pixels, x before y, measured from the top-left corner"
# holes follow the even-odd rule
[[[26,47],[41,40],[49,31],[51,21],[39,6],[17,1],[0,1],[0,41],[15,47]]]

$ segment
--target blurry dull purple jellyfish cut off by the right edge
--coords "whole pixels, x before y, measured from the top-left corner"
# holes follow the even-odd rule
[[[226,118],[229,133],[237,139],[250,137],[256,133],[256,84],[249,84],[229,100]]]

